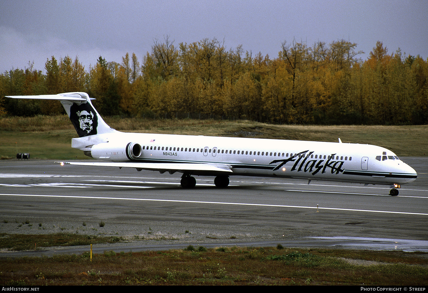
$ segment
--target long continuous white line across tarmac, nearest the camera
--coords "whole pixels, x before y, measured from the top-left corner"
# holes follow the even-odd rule
[[[63,198],[85,198],[85,199],[109,199],[109,200],[141,200],[141,201],[158,201],[158,202],[170,202],[170,203],[208,203],[208,204],[225,204],[235,206],[270,206],[270,207],[290,207],[298,209],[328,209],[328,210],[339,210],[339,211],[351,211],[351,212],[380,212],[389,214],[404,214],[404,215],[428,215],[419,212],[394,212],[394,211],[376,211],[370,209],[341,209],[341,208],[328,208],[328,207],[316,207],[316,206],[286,206],[279,204],[262,204],[262,203],[227,203],[220,201],[197,201],[197,200],[160,200],[160,199],[148,199],[148,198],[128,198],[128,197],[94,197],[94,196],[71,196],[71,195],[45,195],[45,194],[9,194],[0,193],[0,195],[6,196],[34,196],[34,197],[63,197]]]

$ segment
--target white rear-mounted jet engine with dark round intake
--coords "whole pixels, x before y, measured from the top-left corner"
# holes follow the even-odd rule
[[[137,143],[101,143],[94,144],[85,155],[110,161],[132,161],[142,154],[140,144]]]

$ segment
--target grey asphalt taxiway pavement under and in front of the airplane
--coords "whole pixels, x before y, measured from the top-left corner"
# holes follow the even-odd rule
[[[403,158],[418,173],[400,194],[389,187],[231,176],[180,187],[180,173],[0,161],[1,233],[118,235],[99,251],[276,246],[428,251],[428,158]],[[21,224],[29,221],[29,224]],[[99,227],[100,222],[104,227]],[[7,222],[7,223],[6,223]],[[31,254],[78,253],[87,248]],[[19,253],[23,255],[23,253]],[[0,256],[12,256],[2,252]]]

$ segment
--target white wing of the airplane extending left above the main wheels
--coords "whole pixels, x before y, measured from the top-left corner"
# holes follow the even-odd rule
[[[206,172],[224,172],[232,173],[232,166],[216,163],[137,163],[137,162],[56,162],[61,164],[81,165],[81,166],[99,166],[99,167],[129,167],[136,168],[138,171],[151,170],[164,173],[174,173],[176,171],[206,171]]]

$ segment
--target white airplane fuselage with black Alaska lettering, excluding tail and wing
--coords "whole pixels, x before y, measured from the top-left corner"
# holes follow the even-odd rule
[[[128,143],[141,146],[138,157],[126,154]],[[91,150],[91,145],[107,148]],[[115,162],[226,164],[232,166],[229,175],[385,185],[410,183],[417,176],[393,152],[369,144],[114,132],[73,138],[72,147]],[[216,172],[195,170],[191,175]]]

